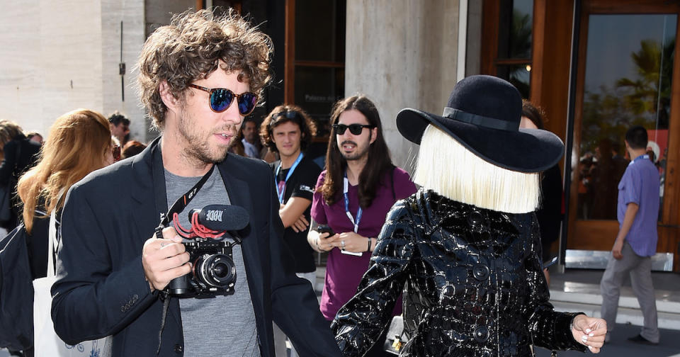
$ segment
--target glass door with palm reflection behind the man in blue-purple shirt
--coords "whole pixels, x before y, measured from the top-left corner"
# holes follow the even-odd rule
[[[633,125],[647,129],[647,152],[661,176],[659,225],[673,228],[678,220],[665,189],[679,144],[673,117],[680,103],[672,96],[678,9],[656,2],[583,1],[567,249],[611,250],[617,186],[630,162],[623,140]],[[677,232],[664,234],[659,251],[674,252]]]

